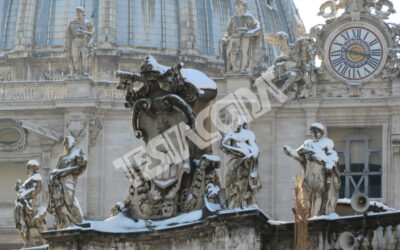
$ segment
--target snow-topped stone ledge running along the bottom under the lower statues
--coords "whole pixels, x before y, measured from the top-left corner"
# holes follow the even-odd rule
[[[346,206],[346,201],[341,202]],[[363,224],[364,237],[362,235]],[[308,249],[340,249],[349,231],[363,246],[399,249],[400,211],[319,216],[308,221]],[[50,249],[293,249],[294,222],[269,220],[254,206],[247,209],[197,210],[160,221],[119,214],[105,221],[44,233]],[[360,243],[361,244],[361,243]],[[395,247],[395,248],[390,248]],[[365,248],[369,249],[369,248]],[[376,248],[378,249],[378,248]]]

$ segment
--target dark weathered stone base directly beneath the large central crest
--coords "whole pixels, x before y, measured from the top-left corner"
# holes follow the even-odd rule
[[[132,230],[126,227],[126,223],[109,221],[109,226],[104,227],[104,224],[89,222],[90,226],[86,224],[82,227],[46,232],[44,237],[48,240],[50,249],[54,250],[265,249],[262,231],[268,219],[260,210],[228,210],[210,216],[200,210],[198,212],[202,215],[201,218],[189,223],[174,225],[171,219],[164,222],[127,222],[130,225],[144,222],[147,226]],[[196,216],[196,213],[192,213],[189,217]],[[188,215],[184,216],[188,219]],[[130,220],[126,217],[125,219]],[[171,223],[168,224],[168,221]]]

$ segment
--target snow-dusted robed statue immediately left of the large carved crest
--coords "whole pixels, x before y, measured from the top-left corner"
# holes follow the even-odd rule
[[[49,213],[55,216],[57,229],[82,222],[82,211],[75,190],[78,176],[87,166],[82,150],[75,148],[73,136],[67,136],[63,145],[65,153],[59,156],[56,168],[50,173],[47,207]]]

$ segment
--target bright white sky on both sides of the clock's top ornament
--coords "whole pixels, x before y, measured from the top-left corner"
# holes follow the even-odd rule
[[[317,24],[325,23],[324,18],[317,16],[319,12],[319,7],[326,0],[293,0],[299,10],[299,14],[301,19],[306,26],[307,31],[310,30],[311,27]],[[392,0],[394,4],[395,10],[397,13],[390,15],[390,18],[386,20],[386,22],[391,23],[399,23],[400,24],[400,0]]]

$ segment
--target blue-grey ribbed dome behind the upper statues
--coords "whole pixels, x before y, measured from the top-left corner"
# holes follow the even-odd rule
[[[22,2],[0,3],[0,50],[13,49],[16,44]],[[248,0],[248,4],[265,33],[285,31],[294,39],[297,11],[292,0]],[[100,45],[108,40],[122,47],[177,53],[194,49],[202,56],[219,55],[219,41],[235,13],[234,0],[37,0],[31,46],[63,45],[78,6],[84,7],[87,19],[95,19]],[[112,18],[102,21],[107,12],[114,13]],[[277,52],[266,43],[264,50],[269,58]]]

